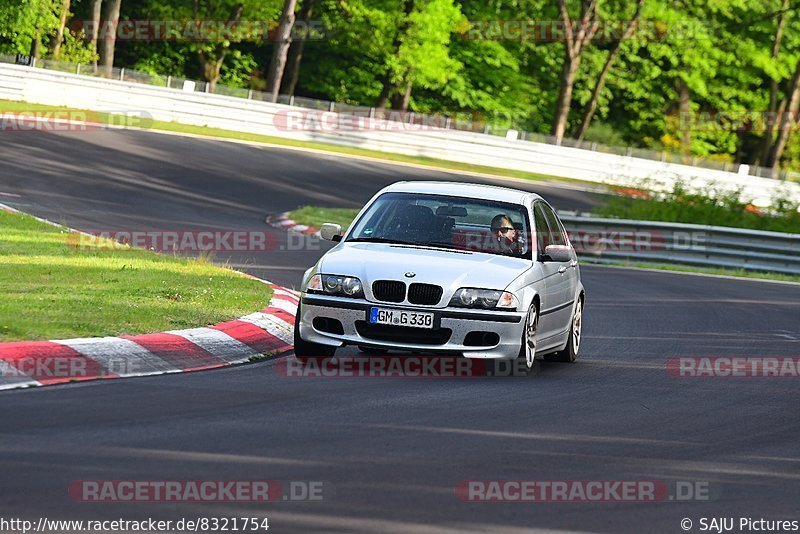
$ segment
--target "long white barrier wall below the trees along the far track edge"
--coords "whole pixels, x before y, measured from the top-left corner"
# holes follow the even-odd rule
[[[157,120],[319,141],[396,154],[425,156],[509,170],[536,172],[615,185],[649,180],[653,189],[671,189],[676,180],[690,187],[716,184],[741,189],[759,206],[768,206],[782,190],[800,200],[800,184],[739,175],[714,169],[665,163],[590,150],[554,146],[454,130],[380,129],[287,130],[275,124],[276,113],[304,108],[222,95],[186,92],[133,82],[82,76],[23,65],[0,64],[0,98],[111,113],[145,113]],[[336,124],[339,115],[332,113]]]

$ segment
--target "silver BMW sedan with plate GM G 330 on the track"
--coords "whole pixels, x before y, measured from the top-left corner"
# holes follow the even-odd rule
[[[337,347],[572,362],[584,289],[552,207],[516,189],[398,182],[378,192],[305,272],[301,361]]]

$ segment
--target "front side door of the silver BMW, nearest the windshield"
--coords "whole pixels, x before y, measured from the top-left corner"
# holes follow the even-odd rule
[[[539,293],[539,328],[538,338],[547,339],[558,333],[559,323],[557,317],[548,310],[553,310],[563,304],[565,289],[564,277],[559,273],[559,263],[543,261],[544,249],[551,245],[550,225],[544,212],[544,202],[537,201],[533,204],[534,232],[536,237],[536,261],[542,272],[542,286]]]

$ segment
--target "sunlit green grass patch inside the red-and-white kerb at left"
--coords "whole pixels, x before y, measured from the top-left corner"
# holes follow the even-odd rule
[[[0,342],[140,334],[253,313],[272,290],[206,261],[112,245],[0,211]]]

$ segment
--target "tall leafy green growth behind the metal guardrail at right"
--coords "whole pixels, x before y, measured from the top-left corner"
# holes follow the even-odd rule
[[[738,192],[689,192],[680,183],[671,192],[653,198],[611,197],[593,213],[598,217],[800,233],[796,202],[779,197],[774,199],[769,210],[755,210]]]

